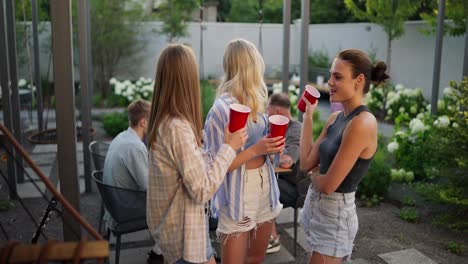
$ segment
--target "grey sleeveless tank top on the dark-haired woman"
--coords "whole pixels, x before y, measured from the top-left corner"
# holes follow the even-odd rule
[[[343,131],[353,117],[357,116],[363,111],[368,111],[369,108],[365,105],[356,107],[348,116],[344,116],[343,112],[339,113],[333,124],[328,127],[327,136],[322,141],[319,147],[320,155],[320,173],[325,174],[330,168],[333,159],[341,145]],[[358,158],[351,171],[346,175],[343,182],[338,186],[336,192],[350,193],[357,190],[358,184],[369,169],[369,165],[373,158],[362,159]]]

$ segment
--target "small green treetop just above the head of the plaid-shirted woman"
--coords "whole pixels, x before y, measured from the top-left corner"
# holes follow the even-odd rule
[[[160,33],[167,35],[170,42],[186,36],[187,22],[199,5],[199,1],[166,0],[158,8],[157,17],[164,23]]]

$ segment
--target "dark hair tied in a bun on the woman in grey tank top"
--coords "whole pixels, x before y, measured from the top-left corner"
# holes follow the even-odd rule
[[[372,65],[372,61],[369,56],[358,49],[347,49],[338,53],[338,59],[347,61],[351,64],[353,71],[353,78],[356,78],[359,74],[364,74],[366,83],[364,84],[364,93],[369,92],[370,84],[380,85],[390,77],[385,73],[387,65],[383,61],[378,61],[375,66]]]

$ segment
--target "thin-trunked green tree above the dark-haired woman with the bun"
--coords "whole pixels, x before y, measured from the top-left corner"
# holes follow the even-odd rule
[[[382,26],[387,33],[387,67],[390,69],[392,41],[405,33],[404,22],[416,14],[419,0],[344,0],[346,8],[358,19],[368,20]],[[365,2],[365,10],[359,3]]]

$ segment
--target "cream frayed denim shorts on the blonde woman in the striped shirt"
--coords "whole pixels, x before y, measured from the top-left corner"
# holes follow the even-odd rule
[[[244,180],[244,219],[236,221],[229,217],[227,208],[221,208],[219,213],[218,236],[239,234],[250,231],[257,225],[275,219],[283,206],[280,204],[275,211],[270,203],[270,176],[266,163],[257,169],[246,170]],[[279,202],[278,202],[279,203]]]

